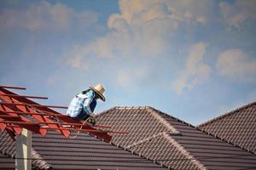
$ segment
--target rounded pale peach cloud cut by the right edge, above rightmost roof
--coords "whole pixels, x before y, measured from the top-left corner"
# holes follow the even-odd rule
[[[221,76],[235,82],[256,81],[256,59],[250,59],[239,48],[219,54],[216,68]]]

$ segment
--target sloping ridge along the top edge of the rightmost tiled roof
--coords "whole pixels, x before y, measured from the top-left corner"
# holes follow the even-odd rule
[[[237,109],[235,109],[235,110],[226,112],[226,113],[224,113],[223,115],[216,116],[216,117],[212,118],[211,120],[209,120],[209,121],[207,121],[207,122],[203,122],[203,123],[201,123],[200,125],[198,125],[198,126],[196,126],[196,127],[204,127],[204,126],[206,126],[206,125],[208,125],[208,124],[210,124],[210,123],[212,123],[212,122],[216,122],[216,121],[218,121],[218,120],[221,120],[221,119],[223,119],[223,118],[226,117],[226,116],[234,115],[236,112],[241,111],[241,110],[245,110],[245,109],[247,109],[247,108],[249,108],[249,107],[251,107],[251,106],[253,106],[253,105],[256,105],[256,101],[254,101],[254,102],[252,102],[252,103],[249,103],[249,104],[247,104],[247,105],[243,105],[243,106],[241,106],[241,107],[239,107],[239,108],[237,108]]]

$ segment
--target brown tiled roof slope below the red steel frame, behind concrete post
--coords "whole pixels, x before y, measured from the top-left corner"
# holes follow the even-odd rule
[[[32,149],[35,169],[166,169],[87,133],[79,133],[75,139],[54,131],[45,136],[33,133]],[[15,159],[10,159],[15,158],[15,142],[5,132],[0,133],[0,150],[0,167],[15,169]]]

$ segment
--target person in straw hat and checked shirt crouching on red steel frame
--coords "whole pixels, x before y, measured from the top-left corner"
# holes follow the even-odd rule
[[[93,111],[96,108],[96,100],[102,99],[105,101],[103,93],[105,88],[102,84],[98,84],[95,87],[90,84],[90,88],[77,94],[71,101],[67,109],[67,116],[72,117],[77,121],[87,120],[92,124],[95,124],[95,115]]]

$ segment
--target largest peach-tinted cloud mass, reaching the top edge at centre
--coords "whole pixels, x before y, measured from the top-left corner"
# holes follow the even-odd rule
[[[80,46],[74,60],[93,55],[100,58],[159,57],[181,22],[207,23],[210,1],[120,0],[119,14],[108,19],[109,33]],[[81,57],[82,56],[82,57]],[[73,59],[68,60],[73,65]],[[78,66],[78,65],[73,65]]]

